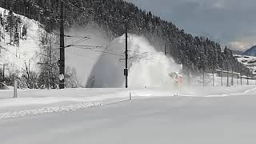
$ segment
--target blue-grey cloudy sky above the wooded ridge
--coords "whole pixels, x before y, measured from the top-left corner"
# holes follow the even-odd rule
[[[246,50],[256,45],[256,0],[127,0],[143,10],[202,35]]]

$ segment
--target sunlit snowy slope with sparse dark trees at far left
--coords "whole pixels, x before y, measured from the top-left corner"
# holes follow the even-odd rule
[[[7,15],[8,12],[9,10],[5,10],[0,7],[0,13],[3,15]],[[8,44],[10,42],[10,35],[5,33],[4,38],[1,39],[2,54],[0,57],[0,63],[7,63],[7,69],[11,72],[21,72],[22,68],[25,67],[25,62],[29,63],[30,61],[30,70],[37,70],[38,58],[35,56],[39,50],[38,33],[39,31],[42,31],[42,29],[39,28],[38,22],[22,15],[14,15],[17,15],[22,19],[22,26],[27,26],[27,36],[26,39],[20,39],[19,46],[11,46]]]

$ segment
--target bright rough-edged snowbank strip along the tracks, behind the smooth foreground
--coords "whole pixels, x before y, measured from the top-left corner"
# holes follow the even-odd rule
[[[0,119],[27,115],[74,111],[93,106],[104,106],[130,99],[158,98],[177,95],[183,97],[224,97],[251,95],[254,86],[191,87],[168,89],[67,89],[67,90],[19,90],[18,98],[12,98],[11,90],[0,91]]]

